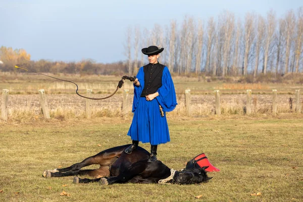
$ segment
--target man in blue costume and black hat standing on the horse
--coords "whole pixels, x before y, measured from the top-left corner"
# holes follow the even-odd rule
[[[157,161],[157,146],[170,141],[166,112],[177,105],[172,77],[165,65],[158,63],[164,48],[151,45],[142,49],[148,56],[149,64],[141,67],[134,81],[134,117],[127,135],[132,144],[125,149],[130,154],[139,141],[150,143],[148,162]]]

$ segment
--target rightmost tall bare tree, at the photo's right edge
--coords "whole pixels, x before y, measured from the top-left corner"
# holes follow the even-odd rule
[[[295,38],[295,73],[299,72],[299,60],[303,51],[303,7],[298,9],[297,22],[296,22],[296,38]]]

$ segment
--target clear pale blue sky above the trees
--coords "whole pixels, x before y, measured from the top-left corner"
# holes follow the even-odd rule
[[[273,9],[283,17],[300,6],[296,0],[0,0],[0,46],[24,48],[32,60],[111,63],[126,60],[129,25],[150,29],[172,19],[181,22],[185,15],[207,20],[223,10],[243,18]]]

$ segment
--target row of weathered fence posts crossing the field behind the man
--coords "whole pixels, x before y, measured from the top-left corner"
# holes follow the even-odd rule
[[[38,90],[39,92],[39,103],[40,107],[43,113],[44,118],[50,119],[51,116],[49,115],[49,108],[47,105],[47,99],[45,95],[44,89]],[[246,90],[246,104],[243,109],[243,113],[246,115],[252,114],[251,110],[251,90]],[[87,89],[86,91],[86,96],[91,97],[92,95],[92,90]],[[300,90],[295,90],[295,110],[294,112],[296,113],[301,113],[301,104],[300,104]],[[3,89],[3,95],[2,95],[2,105],[1,105],[1,119],[4,121],[8,120],[8,108],[9,108],[9,90],[8,89]],[[215,90],[214,91],[214,96],[215,96],[215,114],[217,116],[221,115],[221,100],[220,100],[220,90]],[[272,114],[276,115],[277,112],[277,90],[273,89],[272,90]],[[123,91],[123,102],[122,102],[122,108],[121,108],[121,114],[123,118],[127,118],[129,114],[129,90],[124,89]],[[87,119],[91,118],[91,113],[92,113],[92,100],[91,99],[86,99],[85,103],[85,117]],[[292,99],[289,101],[291,102],[291,108],[292,108]],[[191,116],[192,115],[192,104],[191,104],[191,95],[190,95],[190,89],[185,90],[185,110],[186,110],[186,116]]]

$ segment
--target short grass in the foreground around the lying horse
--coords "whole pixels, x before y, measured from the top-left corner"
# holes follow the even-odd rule
[[[170,118],[171,142],[159,146],[158,159],[180,170],[206,153],[221,172],[209,173],[213,179],[199,185],[100,186],[73,184],[73,177],[41,176],[43,170],[67,167],[130,143],[130,123],[116,118],[0,123],[0,201],[303,200],[301,119]],[[149,150],[149,144],[140,146]],[[61,196],[63,190],[70,196]],[[257,192],[261,195],[250,195]]]

